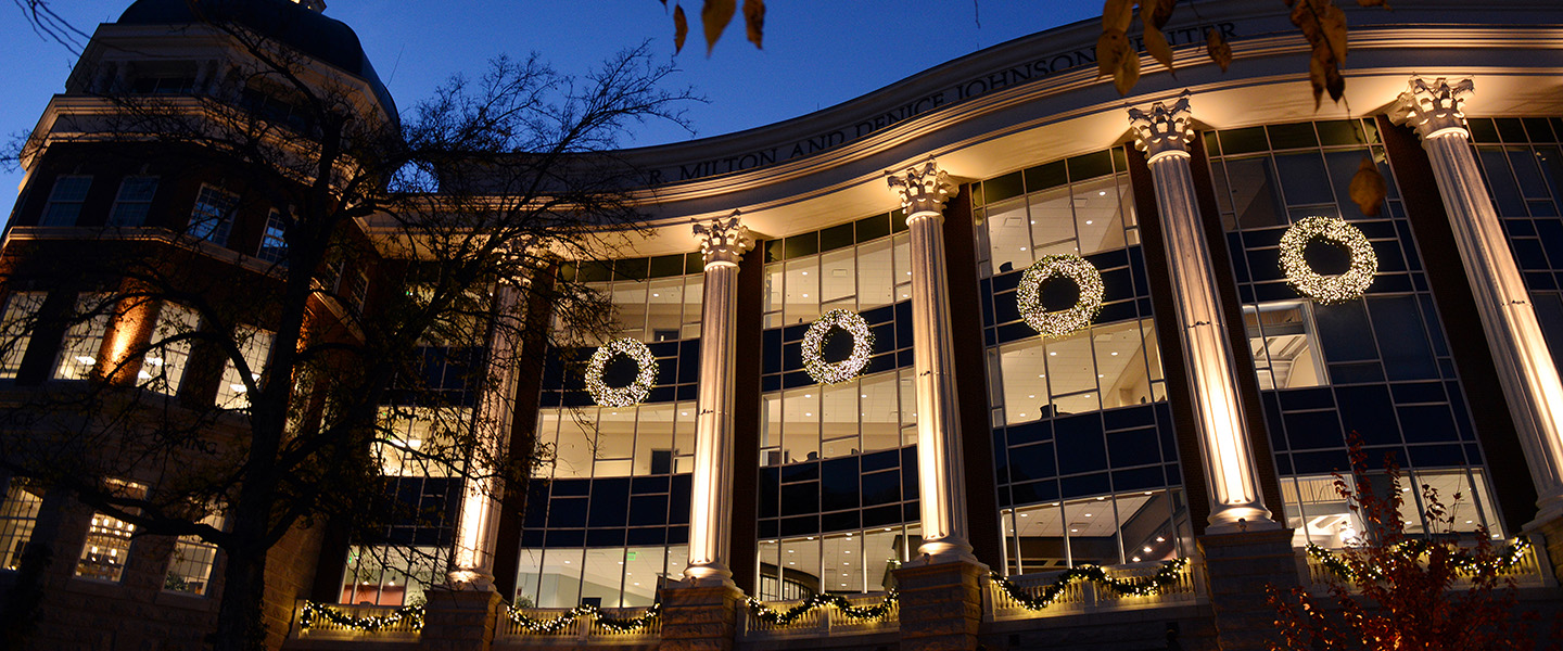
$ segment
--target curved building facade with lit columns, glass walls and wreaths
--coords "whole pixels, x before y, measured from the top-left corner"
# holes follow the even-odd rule
[[[94,42],[181,55],[84,56],[39,134],[61,133],[92,92],[83,80],[219,84],[220,66],[202,64],[213,55],[183,53],[188,36],[153,5]],[[556,270],[611,298],[617,334],[547,350],[499,389],[447,387],[467,412],[514,393],[510,445],[549,451],[525,500],[384,451],[388,481],[441,517],[378,539],[297,532],[274,554],[277,643],[1261,648],[1274,612],[1260,587],[1310,584],[1305,546],[1369,528],[1335,489],[1354,440],[1375,470],[1400,468],[1407,532],[1530,540],[1524,598],[1555,609],[1563,9],[1440,0],[1347,16],[1357,112],[1310,101],[1308,45],[1279,5],[1233,0],[1182,12],[1166,30],[1177,76],[1147,58],[1128,97],[1097,78],[1091,22],[778,125],[621,151],[655,187],[646,233]],[[1204,59],[1208,31],[1232,42],[1230,70]],[[361,52],[339,50],[305,55],[394,114]],[[180,66],[191,75],[148,73]],[[31,161],[11,264],[127,220],[236,253],[202,264],[255,267],[275,248],[259,214],[205,225],[233,214],[220,184],[55,161],[72,159]],[[1358,206],[1364,165],[1386,192]],[[363,284],[341,295],[372,293],[367,265],[341,273]],[[6,292],[8,322],[78,300]],[[114,328],[34,334],[3,370],[16,390],[70,382],[102,364]],[[228,379],[164,382],[236,398]],[[408,445],[430,439],[422,407],[388,409]],[[50,621],[95,599],[178,601],[105,621],[144,617],[163,626],[145,639],[195,643],[173,631],[211,617],[209,545],[141,543],[27,478],[6,486],[0,553],[42,521],[61,553],[91,550],[52,570],[69,596],[45,595]],[[1447,498],[1441,521],[1421,486]],[[50,506],[73,515],[53,521]],[[1047,610],[1005,601],[989,578],[1041,589],[1080,567],[1177,568],[1186,590]],[[885,593],[900,595],[899,617],[794,629],[744,601],[867,607]],[[314,604],[384,617],[414,603],[420,632],[300,621]],[[539,624],[566,612],[588,623]],[[635,626],[589,623],[610,615]]]

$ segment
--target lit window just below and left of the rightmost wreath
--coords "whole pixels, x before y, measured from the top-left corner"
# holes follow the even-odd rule
[[[1327,384],[1307,303],[1246,304],[1243,323],[1249,329],[1249,348],[1254,351],[1254,372],[1258,373],[1260,389]]]

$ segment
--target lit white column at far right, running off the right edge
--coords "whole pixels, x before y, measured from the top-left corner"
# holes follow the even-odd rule
[[[1536,484],[1536,506],[1541,507],[1536,520],[1549,521],[1563,517],[1558,471],[1563,467],[1563,384],[1471,153],[1463,108],[1472,89],[1471,80],[1449,84],[1443,78],[1433,83],[1411,78],[1390,117],[1416,128],[1433,164],[1482,329]]]

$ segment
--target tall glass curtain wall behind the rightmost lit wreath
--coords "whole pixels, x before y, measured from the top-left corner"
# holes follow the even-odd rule
[[[1550,133],[1550,123],[1541,125]],[[1480,443],[1375,122],[1268,125],[1204,139],[1293,543],[1341,546],[1363,534],[1333,487],[1332,471],[1343,471],[1357,490],[1347,471],[1347,432],[1360,436],[1374,467],[1390,454],[1404,468],[1407,532],[1438,532],[1422,517],[1429,504],[1418,487],[1425,484],[1457,515],[1452,532],[1485,525],[1500,534]],[[1507,153],[1485,153],[1488,167],[1508,164]],[[1372,217],[1349,195],[1364,156],[1379,164],[1390,189]],[[1533,158],[1530,150],[1521,156],[1532,170]],[[1525,211],[1525,203],[1515,208]],[[1286,284],[1282,234],[1314,215],[1344,219],[1372,245],[1379,273],[1363,298],[1316,304]],[[1304,258],[1324,275],[1349,267],[1349,254],[1329,242],[1310,244]],[[1388,490],[1386,478],[1372,484]]]

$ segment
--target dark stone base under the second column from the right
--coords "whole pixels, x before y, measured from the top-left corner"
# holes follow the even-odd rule
[[[1299,584],[1291,529],[1207,534],[1199,537],[1210,585],[1216,642],[1222,651],[1264,651],[1280,643],[1275,610],[1264,587],[1291,590]]]

